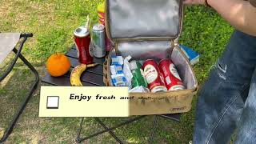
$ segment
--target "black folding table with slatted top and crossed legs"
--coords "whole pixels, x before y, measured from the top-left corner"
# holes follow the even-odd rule
[[[71,70],[73,70],[75,66],[79,65],[78,57],[77,57],[77,50],[76,50],[75,46],[72,46],[70,48],[70,50],[66,53],[66,56],[70,59]],[[86,70],[86,72],[84,72],[82,74],[81,80],[82,80],[83,86],[105,86],[105,84],[103,83],[103,62],[105,62],[105,58],[94,58],[94,62],[98,63],[99,65],[95,66],[95,67],[88,68]],[[64,76],[61,76],[58,78],[54,78],[54,77],[51,77],[50,74],[46,74],[46,76],[44,78],[42,78],[42,82],[46,82],[47,84],[50,84],[53,86],[70,86],[71,70]],[[157,126],[158,116],[160,116],[162,118],[169,118],[174,121],[179,121],[180,114],[156,115],[156,117],[154,118],[154,126],[153,126],[153,129],[151,132],[150,142],[152,142],[153,138],[154,138],[154,128]],[[127,125],[131,122],[138,121],[139,119],[142,119],[144,117],[146,117],[146,116],[143,115],[143,116],[137,116],[134,118],[130,118],[130,119],[126,120],[125,122],[122,122],[113,127],[106,126],[106,124],[104,122],[102,122],[102,120],[100,118],[94,118],[95,121],[98,122],[104,128],[104,130],[99,131],[98,133],[95,133],[95,134],[90,134],[89,136],[86,136],[84,138],[81,138],[81,131],[82,131],[82,126],[83,126],[83,122],[85,121],[85,118],[81,118],[80,127],[78,128],[78,136],[75,140],[76,140],[76,142],[82,142],[86,139],[98,136],[99,134],[109,132],[111,134],[111,136],[113,136],[113,138],[115,138],[117,140],[117,142],[123,143],[120,140],[120,138],[118,138],[117,135],[114,134],[114,130],[117,129],[118,127]]]

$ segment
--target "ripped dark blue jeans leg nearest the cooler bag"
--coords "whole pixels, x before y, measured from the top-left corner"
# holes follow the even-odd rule
[[[195,144],[226,143],[236,128],[256,63],[256,38],[234,31],[199,92]]]

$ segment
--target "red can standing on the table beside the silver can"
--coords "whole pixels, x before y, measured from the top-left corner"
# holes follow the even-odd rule
[[[78,51],[80,63],[93,63],[92,51],[90,50],[90,30],[85,26],[80,26],[74,30],[74,42]]]

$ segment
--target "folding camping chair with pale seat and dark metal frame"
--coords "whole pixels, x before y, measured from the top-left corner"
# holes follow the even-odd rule
[[[30,70],[35,75],[35,81],[33,85],[31,86],[28,94],[26,94],[26,98],[23,100],[21,106],[18,109],[18,112],[14,114],[14,117],[12,121],[10,122],[10,125],[7,127],[6,131],[4,132],[2,138],[0,139],[0,143],[6,141],[8,136],[11,134],[12,130],[14,129],[14,126],[16,122],[18,121],[19,116],[22,114],[22,111],[25,109],[27,102],[31,98],[31,95],[34,93],[34,90],[38,86],[39,82],[39,75],[38,71],[34,69],[34,67],[24,58],[21,54],[22,47],[24,43],[26,42],[26,39],[29,37],[33,37],[33,34],[30,33],[0,33],[0,64],[4,61],[4,59],[10,54],[11,51],[14,51],[16,54],[13,61],[10,63],[10,66],[7,68],[7,70],[0,76],[0,82],[8,74],[10,74],[10,71],[14,68],[15,63],[17,62],[18,58],[22,60],[30,68]],[[19,44],[18,44],[19,43]],[[19,46],[18,46],[19,45]],[[16,49],[18,47],[18,49]]]

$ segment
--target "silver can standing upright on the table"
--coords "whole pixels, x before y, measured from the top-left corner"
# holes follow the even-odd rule
[[[93,54],[96,58],[102,58],[106,55],[106,33],[105,26],[96,23],[92,31]]]

